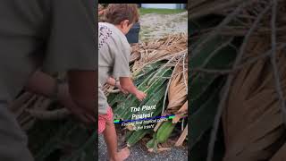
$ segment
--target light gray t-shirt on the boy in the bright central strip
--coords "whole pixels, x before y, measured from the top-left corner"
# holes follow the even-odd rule
[[[107,22],[98,23],[98,113],[106,114],[108,103],[102,90],[109,77],[130,77],[130,44],[121,30]]]

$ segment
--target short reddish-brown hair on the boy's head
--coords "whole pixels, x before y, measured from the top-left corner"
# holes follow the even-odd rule
[[[104,21],[118,25],[124,20],[129,20],[129,24],[139,21],[137,4],[108,4]]]

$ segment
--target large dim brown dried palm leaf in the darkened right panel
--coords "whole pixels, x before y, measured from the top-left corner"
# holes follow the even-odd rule
[[[248,45],[247,55],[261,55],[267,50],[267,39],[256,38]],[[283,59],[283,60],[282,60]],[[280,71],[286,70],[285,56],[280,53]],[[269,69],[270,68],[270,69]],[[285,91],[285,73],[282,89]],[[242,119],[243,118],[243,119]],[[280,148],[285,129],[274,89],[274,78],[268,59],[245,66],[234,80],[223,113],[226,146],[224,160],[268,160]]]

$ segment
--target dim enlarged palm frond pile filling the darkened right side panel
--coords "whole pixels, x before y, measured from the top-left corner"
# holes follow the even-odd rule
[[[284,160],[286,2],[194,1],[191,160]]]

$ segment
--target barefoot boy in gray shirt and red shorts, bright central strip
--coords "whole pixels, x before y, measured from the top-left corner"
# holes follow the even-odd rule
[[[104,14],[105,22],[98,23],[98,132],[104,134],[109,159],[121,161],[129,157],[130,151],[128,148],[117,150],[113,112],[101,88],[108,83],[139,100],[146,97],[130,80],[130,44],[125,37],[139,20],[139,13],[136,4],[109,4]]]

